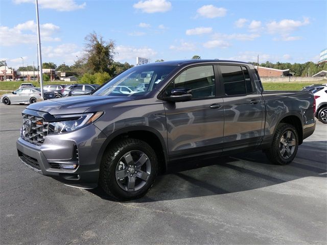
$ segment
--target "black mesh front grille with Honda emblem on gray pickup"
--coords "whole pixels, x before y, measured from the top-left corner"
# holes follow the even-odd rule
[[[22,135],[23,137],[37,145],[44,142],[44,137],[48,135],[48,122],[42,117],[23,114]]]

